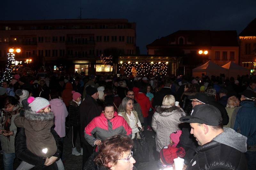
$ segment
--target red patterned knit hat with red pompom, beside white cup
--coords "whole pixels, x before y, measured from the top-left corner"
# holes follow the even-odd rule
[[[183,158],[185,156],[185,150],[182,147],[176,148],[171,145],[165,146],[160,151],[160,158],[165,165],[172,165],[173,159]]]

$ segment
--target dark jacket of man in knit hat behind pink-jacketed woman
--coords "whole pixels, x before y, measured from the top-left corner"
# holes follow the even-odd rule
[[[92,96],[86,95],[84,101],[80,105],[80,128],[81,139],[86,145],[89,145],[84,139],[84,128],[89,124],[96,116],[100,116],[102,107],[92,98]]]

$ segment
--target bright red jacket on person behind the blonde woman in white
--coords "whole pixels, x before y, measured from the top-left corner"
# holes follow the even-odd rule
[[[140,104],[143,117],[148,117],[148,111],[151,107],[149,98],[144,93],[138,93],[135,100]]]

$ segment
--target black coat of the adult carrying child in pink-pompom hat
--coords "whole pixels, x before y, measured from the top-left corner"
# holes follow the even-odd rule
[[[57,152],[53,155],[55,157],[58,157],[57,160],[60,159],[61,152],[62,152],[62,142],[60,139],[60,136],[57,134],[57,132],[51,128],[51,133],[56,141],[57,145]],[[30,152],[27,148],[26,144],[26,135],[25,135],[25,129],[24,128],[18,128],[17,133],[15,136],[15,153],[17,157],[31,165],[35,165],[36,167],[34,169],[49,169],[49,170],[58,170],[57,164],[54,163],[50,166],[44,166],[45,159],[40,158]]]

